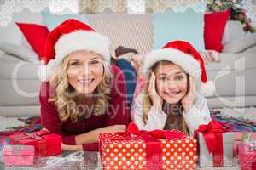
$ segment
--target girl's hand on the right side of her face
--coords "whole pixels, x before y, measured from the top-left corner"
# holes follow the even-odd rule
[[[194,105],[195,100],[195,83],[189,76],[189,87],[187,94],[181,100],[185,113],[188,113]]]

